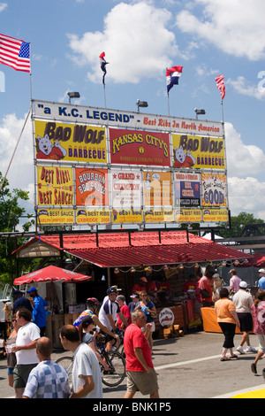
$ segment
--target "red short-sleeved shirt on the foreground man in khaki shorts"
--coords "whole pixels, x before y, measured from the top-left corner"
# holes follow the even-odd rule
[[[149,347],[148,340],[143,334],[140,327],[135,324],[131,324],[125,329],[124,347],[126,355],[126,370],[128,371],[146,371],[140,364],[140,361],[136,358],[134,348],[140,348],[143,357],[149,367],[153,368],[152,363],[152,351]]]

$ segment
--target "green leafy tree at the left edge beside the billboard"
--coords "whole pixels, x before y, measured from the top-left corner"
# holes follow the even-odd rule
[[[3,176],[0,173],[0,183],[3,183]],[[21,207],[19,203],[21,201],[27,201],[29,199],[28,192],[21,189],[9,189],[9,182],[5,179],[4,186],[0,192],[0,232],[2,233],[0,239],[0,282],[12,284],[14,277],[16,277],[16,261],[15,257],[11,254],[16,249],[16,243],[26,243],[25,238],[19,238],[16,242],[15,238],[8,235],[4,236],[4,233],[11,233],[19,225],[21,217],[27,217],[25,208]],[[24,232],[27,232],[29,227],[34,224],[34,220],[28,216],[27,222],[21,227]],[[25,267],[28,264],[28,260],[24,261]],[[27,268],[25,268],[27,270]]]

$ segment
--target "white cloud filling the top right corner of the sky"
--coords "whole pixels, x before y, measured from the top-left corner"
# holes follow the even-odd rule
[[[203,7],[201,18],[188,10],[179,12],[176,22],[180,30],[236,57],[265,57],[263,0],[194,0],[193,5]]]

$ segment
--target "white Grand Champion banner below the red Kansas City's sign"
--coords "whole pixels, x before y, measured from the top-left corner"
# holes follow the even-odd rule
[[[114,208],[137,208],[141,202],[141,173],[131,170],[111,169],[112,206]]]

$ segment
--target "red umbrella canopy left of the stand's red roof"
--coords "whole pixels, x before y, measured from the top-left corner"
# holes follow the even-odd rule
[[[24,283],[41,282],[41,281],[87,281],[91,276],[71,272],[57,266],[47,266],[33,273],[20,276],[13,281],[13,284],[19,285]]]

